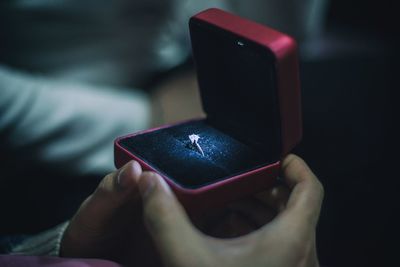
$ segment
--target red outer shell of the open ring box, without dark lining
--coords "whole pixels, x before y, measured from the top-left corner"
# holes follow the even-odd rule
[[[302,136],[296,42],[285,34],[219,9],[205,10],[195,15],[192,19],[200,20],[234,33],[240,38],[265,47],[273,54],[281,122],[281,158],[283,158],[301,140]],[[144,170],[156,171],[155,167],[121,146],[120,141],[170,126],[149,129],[116,139],[114,144],[116,167],[120,168],[128,161],[136,160]],[[183,206],[190,213],[198,214],[271,187],[275,183],[279,170],[280,160],[196,189],[184,188],[166,175],[161,174],[161,176],[170,185]]]

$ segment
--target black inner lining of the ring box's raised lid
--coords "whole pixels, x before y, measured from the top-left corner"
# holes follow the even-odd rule
[[[282,140],[272,52],[196,18],[190,20],[190,35],[209,121],[279,159]]]

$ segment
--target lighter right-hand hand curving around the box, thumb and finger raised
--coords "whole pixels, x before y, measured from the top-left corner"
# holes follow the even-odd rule
[[[197,230],[158,175],[140,179],[144,219],[163,263],[169,267],[318,266],[315,228],[322,185],[297,156],[288,156],[282,167],[291,192],[287,202],[282,202],[284,197],[275,199],[279,200],[275,201],[280,207],[278,215],[262,228],[231,239],[210,237]]]

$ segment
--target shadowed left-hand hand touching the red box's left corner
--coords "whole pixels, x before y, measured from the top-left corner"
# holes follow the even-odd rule
[[[137,184],[142,174],[140,165],[131,161],[100,182],[71,219],[60,245],[62,257],[160,266],[141,215]]]

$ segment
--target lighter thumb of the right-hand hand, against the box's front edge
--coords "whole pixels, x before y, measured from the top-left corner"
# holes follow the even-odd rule
[[[144,172],[139,192],[146,227],[163,258],[179,257],[183,251],[193,253],[190,250],[195,249],[200,234],[167,183],[156,173]]]

